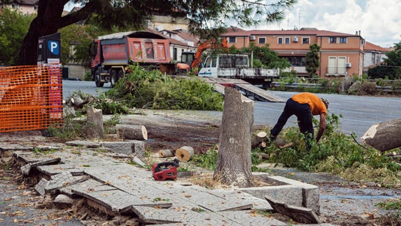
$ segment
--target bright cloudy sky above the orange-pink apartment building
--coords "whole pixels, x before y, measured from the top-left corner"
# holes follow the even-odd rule
[[[67,4],[65,10],[73,7],[74,4]],[[285,15],[280,23],[244,29],[286,30],[300,25],[348,34],[360,30],[363,38],[382,47],[401,40],[401,0],[298,0]]]

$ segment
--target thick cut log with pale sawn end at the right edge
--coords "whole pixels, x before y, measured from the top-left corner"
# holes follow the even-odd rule
[[[380,151],[401,147],[401,119],[373,125],[363,135],[362,141]]]

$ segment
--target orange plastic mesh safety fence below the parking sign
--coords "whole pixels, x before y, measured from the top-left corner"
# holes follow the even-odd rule
[[[0,67],[0,132],[60,125],[61,76],[58,65]]]

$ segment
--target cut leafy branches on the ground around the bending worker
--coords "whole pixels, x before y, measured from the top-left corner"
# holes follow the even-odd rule
[[[376,182],[383,186],[400,183],[396,173],[400,167],[389,157],[374,148],[355,142],[355,134],[340,132],[339,118],[332,114],[326,118],[326,130],[319,143],[312,141],[306,149],[304,135],[298,127],[290,127],[280,134],[280,139],[293,142],[292,147],[280,149],[274,144],[263,151],[269,162],[299,168],[303,171],[328,172],[355,182]],[[318,120],[314,119],[315,128]]]

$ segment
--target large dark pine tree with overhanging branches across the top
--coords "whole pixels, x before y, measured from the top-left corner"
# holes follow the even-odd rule
[[[188,17],[189,29],[201,38],[217,37],[226,23],[253,26],[280,21],[284,10],[297,0],[39,0],[37,17],[32,21],[24,38],[18,65],[36,64],[37,39],[96,14],[95,23],[104,28],[142,28],[153,15],[166,15],[176,19]],[[62,16],[67,3],[80,3],[81,10]]]

